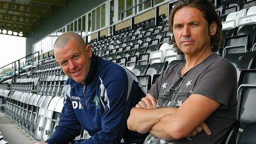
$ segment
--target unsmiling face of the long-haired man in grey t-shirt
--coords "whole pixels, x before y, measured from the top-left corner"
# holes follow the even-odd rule
[[[207,21],[197,8],[183,7],[175,12],[173,34],[178,48],[185,55],[195,55],[210,48]]]

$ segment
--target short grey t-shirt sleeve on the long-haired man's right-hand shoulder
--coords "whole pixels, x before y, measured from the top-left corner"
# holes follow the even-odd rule
[[[226,108],[234,88],[237,74],[234,66],[226,60],[212,63],[197,79],[192,94],[201,94],[221,103]]]

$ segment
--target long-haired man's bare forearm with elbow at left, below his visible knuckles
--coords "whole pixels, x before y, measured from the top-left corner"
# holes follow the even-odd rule
[[[142,134],[148,132],[164,115],[175,113],[176,108],[142,109],[132,108],[127,120],[128,128]]]

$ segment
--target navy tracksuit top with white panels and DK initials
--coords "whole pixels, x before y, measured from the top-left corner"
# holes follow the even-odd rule
[[[61,119],[46,142],[67,143],[81,132],[91,136],[76,143],[120,143],[144,139],[127,129],[127,118],[145,92],[136,76],[124,67],[93,55],[86,85],[68,78]]]

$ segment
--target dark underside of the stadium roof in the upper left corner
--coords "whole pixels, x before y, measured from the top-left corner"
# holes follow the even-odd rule
[[[52,17],[52,7],[66,7],[67,0],[1,0],[0,34],[26,36]]]

